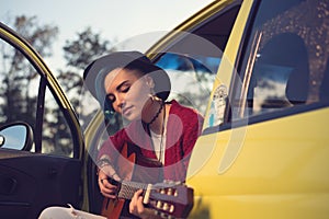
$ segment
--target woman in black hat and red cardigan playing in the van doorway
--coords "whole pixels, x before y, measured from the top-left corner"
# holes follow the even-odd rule
[[[134,169],[138,181],[145,180],[141,172],[146,170],[144,172],[151,173],[154,182],[183,182],[203,118],[174,100],[166,102],[171,85],[164,70],[151,64],[141,53],[117,51],[90,64],[83,79],[105,114],[116,112],[129,120],[99,151],[97,163],[101,194],[110,199],[116,198],[117,186],[109,177],[125,180],[126,176],[118,173],[122,166],[117,164],[118,160],[128,162],[122,155],[125,147],[138,157],[160,163],[155,168],[135,164],[138,165]],[[132,175],[129,177],[132,180]],[[155,218],[154,210],[144,206],[141,193],[137,191],[129,205],[124,207],[124,216]]]

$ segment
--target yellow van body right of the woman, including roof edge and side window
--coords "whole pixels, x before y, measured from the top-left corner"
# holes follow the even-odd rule
[[[327,218],[329,2],[215,1],[149,50],[168,51],[218,65],[190,217]]]

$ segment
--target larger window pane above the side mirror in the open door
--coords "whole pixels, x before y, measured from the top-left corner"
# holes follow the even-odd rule
[[[35,125],[37,73],[27,59],[0,39],[0,125],[24,120]]]

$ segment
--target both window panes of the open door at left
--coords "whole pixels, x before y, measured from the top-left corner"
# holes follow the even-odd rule
[[[72,138],[54,96],[46,89],[43,117],[37,115],[41,76],[20,50],[0,39],[0,125],[25,122],[34,138],[42,136],[42,152],[72,157]],[[45,92],[45,91],[43,91]],[[42,127],[36,128],[41,119]],[[38,131],[38,132],[36,132]],[[33,146],[32,152],[35,152]]]

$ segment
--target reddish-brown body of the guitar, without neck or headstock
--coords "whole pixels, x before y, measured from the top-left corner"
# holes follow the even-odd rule
[[[161,164],[158,161],[144,158],[139,151],[131,151],[132,148],[134,149],[134,146],[128,148],[128,145],[125,143],[121,151],[121,157],[116,163],[116,173],[118,176],[125,181],[140,183],[161,182]],[[134,218],[128,212],[128,205],[129,200],[123,198],[104,198],[101,215],[111,219],[118,219],[120,217]]]

